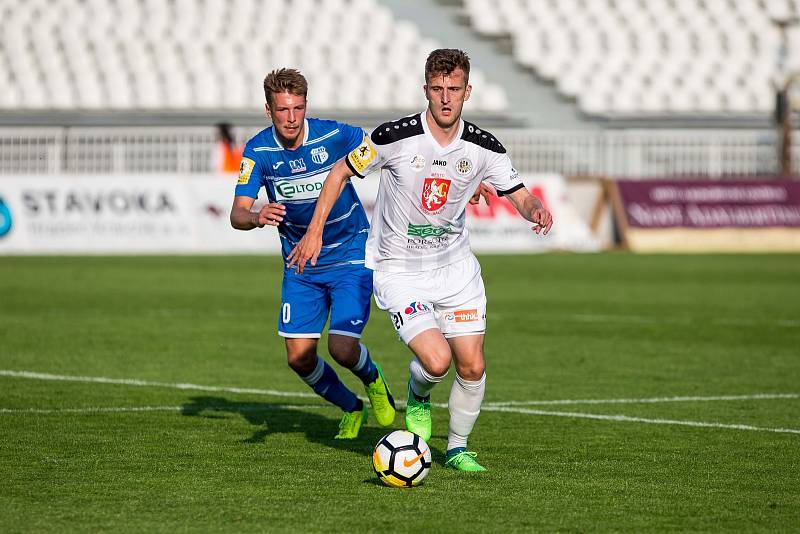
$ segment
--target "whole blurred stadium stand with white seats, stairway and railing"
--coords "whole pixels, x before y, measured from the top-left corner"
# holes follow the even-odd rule
[[[308,75],[314,113],[369,129],[424,106],[420,66],[441,45],[483,67],[466,116],[504,139],[520,171],[773,174],[772,84],[800,67],[800,26],[784,42],[771,19],[799,10],[800,0],[0,0],[0,174],[213,172],[212,125],[234,123],[239,142],[262,128],[261,80],[283,65]],[[800,173],[797,143],[792,162]]]

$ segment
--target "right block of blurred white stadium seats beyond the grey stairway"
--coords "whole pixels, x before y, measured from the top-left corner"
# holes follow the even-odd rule
[[[464,0],[474,29],[595,115],[769,113],[800,0]],[[792,51],[793,53],[789,53]]]

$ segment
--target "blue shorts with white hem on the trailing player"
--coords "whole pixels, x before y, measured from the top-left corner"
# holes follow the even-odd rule
[[[278,334],[318,338],[331,316],[329,334],[361,337],[369,319],[372,271],[363,264],[341,265],[319,272],[283,273]]]

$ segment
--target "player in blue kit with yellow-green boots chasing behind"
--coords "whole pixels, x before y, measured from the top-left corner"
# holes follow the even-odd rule
[[[361,144],[364,131],[306,118],[307,93],[305,77],[294,69],[277,69],[264,79],[272,127],[245,146],[230,218],[239,230],[278,227],[284,258],[278,334],[285,339],[289,367],[344,411],[336,438],[353,439],[366,423],[368,410],[317,355],[328,314],[328,351],[364,383],[380,426],[392,425],[395,407],[380,366],[359,342],[369,319],[372,271],[364,266],[369,222],[352,184],[343,185],[325,223],[316,265],[300,274],[286,267],[286,256],[305,233],[328,172]],[[252,211],[262,187],[269,203]]]

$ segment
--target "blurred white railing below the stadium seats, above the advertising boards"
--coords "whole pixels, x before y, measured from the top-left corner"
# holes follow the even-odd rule
[[[255,129],[241,128],[243,139]],[[496,130],[520,172],[675,177],[777,172],[769,130]],[[794,174],[800,174],[800,132]],[[208,173],[213,128],[0,128],[0,174]]]

